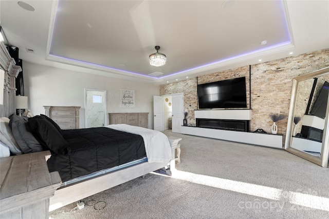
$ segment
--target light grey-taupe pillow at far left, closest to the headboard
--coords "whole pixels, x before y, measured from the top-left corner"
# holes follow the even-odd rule
[[[17,144],[14,135],[12,134],[11,128],[9,127],[9,118],[0,118],[0,141],[9,147],[9,150],[13,154],[21,154],[21,148]]]

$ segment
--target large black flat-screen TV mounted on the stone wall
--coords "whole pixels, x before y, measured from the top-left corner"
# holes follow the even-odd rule
[[[246,108],[246,77],[197,85],[199,109]]]

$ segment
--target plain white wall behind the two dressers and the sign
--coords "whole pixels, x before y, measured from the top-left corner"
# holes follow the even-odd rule
[[[153,95],[159,86],[125,81],[77,71],[23,62],[24,92],[34,115],[44,114],[43,106],[80,106],[80,128],[84,128],[84,89],[106,90],[110,112],[149,112],[149,128],[153,129]],[[120,89],[135,90],[135,108],[120,108]]]

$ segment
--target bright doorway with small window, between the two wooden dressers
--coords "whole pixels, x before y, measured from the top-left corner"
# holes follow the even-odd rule
[[[106,91],[85,89],[85,128],[105,125]]]

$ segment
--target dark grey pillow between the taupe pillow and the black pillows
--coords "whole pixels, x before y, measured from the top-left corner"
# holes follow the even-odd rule
[[[15,114],[10,118],[9,126],[11,127],[15,140],[23,153],[44,151],[44,147],[36,140],[31,132],[28,119],[28,117]]]

